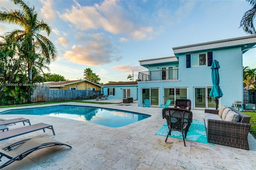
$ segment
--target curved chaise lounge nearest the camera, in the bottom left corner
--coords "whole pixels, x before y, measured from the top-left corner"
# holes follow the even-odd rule
[[[0,149],[0,161],[3,156],[10,160],[2,164],[0,168],[4,168],[16,160],[22,160],[35,150],[57,145],[66,145],[72,148],[72,146],[68,144],[61,143],[51,138],[30,138],[6,146],[5,148]]]

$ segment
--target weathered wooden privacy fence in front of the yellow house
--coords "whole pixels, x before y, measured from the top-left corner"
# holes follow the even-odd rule
[[[48,86],[37,86],[32,95],[33,102],[66,101],[77,99],[93,99],[100,91],[89,90],[50,90]]]

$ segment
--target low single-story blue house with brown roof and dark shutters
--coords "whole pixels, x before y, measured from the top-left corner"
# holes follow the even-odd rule
[[[127,82],[110,82],[102,85],[103,95],[108,95],[109,99],[127,99],[132,97],[134,100],[138,99],[137,81]]]

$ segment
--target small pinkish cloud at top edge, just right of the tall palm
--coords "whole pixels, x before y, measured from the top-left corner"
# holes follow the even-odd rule
[[[40,14],[46,19],[46,20],[54,20],[56,13],[54,10],[52,10],[52,2],[50,0],[40,0],[42,3],[42,8],[40,10]]]

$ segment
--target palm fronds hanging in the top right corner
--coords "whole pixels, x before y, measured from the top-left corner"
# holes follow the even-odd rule
[[[252,8],[244,13],[239,28],[242,27],[248,34],[256,34],[256,30],[254,28],[254,19],[256,17],[256,0],[246,0],[246,2],[249,2]]]

